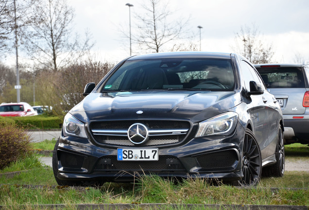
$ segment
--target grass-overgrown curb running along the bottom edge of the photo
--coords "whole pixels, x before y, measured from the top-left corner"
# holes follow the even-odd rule
[[[31,205],[36,209],[64,209],[65,204]],[[0,206],[0,209],[7,206]],[[20,208],[29,205],[20,205]],[[279,205],[220,205],[220,204],[69,204],[70,208],[76,210],[166,210],[166,209],[186,209],[186,210],[308,210],[306,206],[279,206]]]

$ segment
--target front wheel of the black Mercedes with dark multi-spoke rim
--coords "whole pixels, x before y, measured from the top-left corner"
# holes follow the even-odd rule
[[[240,186],[255,186],[262,173],[261,151],[257,139],[251,130],[246,129],[242,149],[242,174]]]

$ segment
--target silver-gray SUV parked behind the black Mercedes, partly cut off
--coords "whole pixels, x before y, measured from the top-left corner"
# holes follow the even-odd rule
[[[308,144],[309,65],[258,64],[255,68],[281,107],[285,144]]]

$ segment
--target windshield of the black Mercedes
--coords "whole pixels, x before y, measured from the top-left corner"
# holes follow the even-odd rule
[[[102,91],[231,91],[234,84],[230,59],[147,59],[126,61],[104,83]]]

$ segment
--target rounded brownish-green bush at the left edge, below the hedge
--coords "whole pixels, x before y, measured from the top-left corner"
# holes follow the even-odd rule
[[[18,125],[0,124],[0,169],[32,153],[27,130]]]

